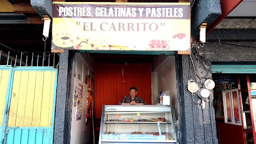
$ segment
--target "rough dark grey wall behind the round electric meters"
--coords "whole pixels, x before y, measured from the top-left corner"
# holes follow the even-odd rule
[[[182,82],[180,92],[184,95],[182,120],[183,133],[186,136],[182,143],[218,143],[213,108],[213,93],[210,92],[209,101],[205,101],[205,108],[201,107],[201,99],[197,93],[189,93],[187,82],[192,79],[199,88],[203,88],[206,79],[211,79],[211,62],[201,57],[195,47],[191,55],[182,55]],[[182,108],[180,110],[182,110]],[[181,111],[180,111],[181,112]]]

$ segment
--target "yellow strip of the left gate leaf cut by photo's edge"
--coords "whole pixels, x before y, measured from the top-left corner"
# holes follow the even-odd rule
[[[4,101],[8,84],[9,70],[0,70],[0,126],[2,125],[2,116]]]

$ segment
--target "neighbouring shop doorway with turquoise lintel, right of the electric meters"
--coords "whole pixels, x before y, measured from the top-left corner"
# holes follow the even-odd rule
[[[255,66],[247,65],[250,70],[245,71],[241,67],[246,65],[238,66],[234,71],[227,70],[229,65],[218,67],[224,73],[212,73],[212,78],[215,81],[213,106],[219,143],[256,143],[253,110],[256,104]],[[216,69],[213,65],[212,71]]]

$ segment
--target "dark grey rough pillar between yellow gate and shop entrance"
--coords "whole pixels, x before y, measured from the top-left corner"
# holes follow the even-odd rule
[[[69,60],[68,60],[69,58]],[[58,81],[53,143],[68,143],[68,100],[70,83],[70,52],[64,50],[59,56]],[[69,71],[69,72],[68,72]],[[67,142],[68,141],[68,142]]]

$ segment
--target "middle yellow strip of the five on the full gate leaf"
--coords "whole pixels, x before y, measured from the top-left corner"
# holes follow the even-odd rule
[[[24,126],[32,126],[36,71],[28,72]]]

